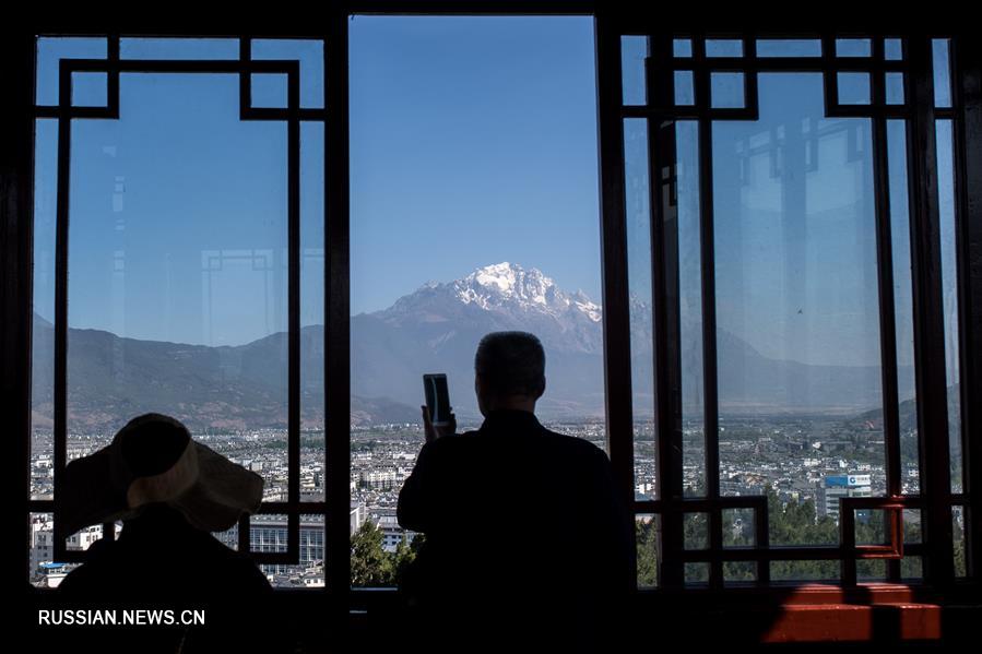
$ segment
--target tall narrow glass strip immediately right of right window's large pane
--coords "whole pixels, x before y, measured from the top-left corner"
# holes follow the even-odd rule
[[[900,404],[900,465],[902,492],[920,492],[916,380],[914,377],[914,313],[911,277],[910,211],[908,206],[907,124],[887,121],[890,239],[894,251],[894,311],[897,330],[897,399]],[[871,416],[874,426],[882,413]]]

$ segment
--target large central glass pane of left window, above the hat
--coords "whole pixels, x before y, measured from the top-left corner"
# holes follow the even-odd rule
[[[146,412],[286,488],[286,127],[236,75],[125,74],[72,124],[69,448]],[[284,498],[285,499],[285,498]]]

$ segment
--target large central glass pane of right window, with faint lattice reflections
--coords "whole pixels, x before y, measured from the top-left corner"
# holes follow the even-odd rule
[[[758,121],[713,123],[722,486],[768,489],[772,544],[836,543],[838,497],[885,490],[869,124],[759,82]]]

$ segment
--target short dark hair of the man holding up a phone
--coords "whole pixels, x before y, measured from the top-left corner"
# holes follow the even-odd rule
[[[492,395],[537,397],[545,391],[545,350],[529,332],[492,332],[477,345],[474,372]]]

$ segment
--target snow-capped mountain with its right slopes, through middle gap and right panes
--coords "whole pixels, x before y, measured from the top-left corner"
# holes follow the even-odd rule
[[[651,305],[631,296],[635,415],[654,409]],[[603,309],[567,293],[536,269],[498,263],[452,282],[429,283],[392,307],[352,318],[352,389],[369,397],[418,402],[424,372],[447,372],[458,415],[476,416],[473,357],[498,330],[536,334],[546,350],[544,416],[603,415]],[[682,326],[682,401],[702,404],[702,325]],[[732,412],[826,411],[876,406],[879,368],[808,366],[765,357],[746,341],[717,331],[721,408]],[[612,392],[616,392],[616,389]],[[901,389],[907,396],[909,389]]]

